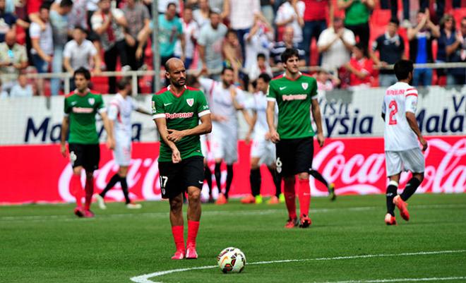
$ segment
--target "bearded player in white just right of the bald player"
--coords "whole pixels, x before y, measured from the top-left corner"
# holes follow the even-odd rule
[[[233,181],[233,163],[238,159],[238,119],[237,111],[249,115],[244,109],[244,93],[234,85],[233,68],[225,67],[221,73],[221,82],[210,78],[199,78],[204,90],[208,90],[208,100],[212,111],[211,149],[215,158],[215,181],[217,181],[217,205],[228,202],[229,188]],[[222,193],[222,161],[227,164],[227,183]]]

